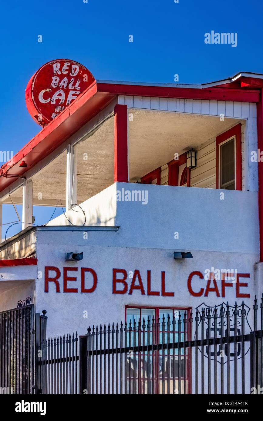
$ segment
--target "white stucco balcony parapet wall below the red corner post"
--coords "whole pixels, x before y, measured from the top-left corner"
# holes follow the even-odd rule
[[[116,191],[122,189],[145,192],[147,204],[117,201]],[[120,226],[116,244],[123,247],[259,253],[257,192],[115,183],[81,207],[86,225]],[[66,215],[73,224],[83,224],[82,213]],[[70,223],[61,215],[48,225]]]

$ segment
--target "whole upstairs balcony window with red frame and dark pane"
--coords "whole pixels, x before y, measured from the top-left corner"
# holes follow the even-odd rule
[[[242,190],[241,124],[216,138],[216,188]]]

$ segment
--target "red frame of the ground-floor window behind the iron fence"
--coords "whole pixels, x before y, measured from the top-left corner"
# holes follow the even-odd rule
[[[140,305],[126,305],[125,306],[125,323],[127,323],[127,309],[153,309],[156,312],[156,317],[155,317],[155,323],[157,322],[158,318],[160,317],[159,315],[159,310],[163,308],[163,309],[171,309],[171,310],[186,310],[187,311],[187,318],[188,320],[190,319],[190,313],[192,311],[192,307],[181,307],[181,306],[176,306],[176,307],[171,307],[171,306],[162,306],[162,307],[155,307],[155,306],[140,306]],[[172,320],[172,318],[171,318]],[[183,319],[182,319],[183,320]],[[141,321],[141,325],[142,325],[142,320]],[[181,332],[182,333],[182,332]],[[189,323],[189,330],[188,330],[188,341],[192,340],[192,325]],[[157,329],[155,330],[155,344],[159,343],[159,338],[158,338],[158,334],[159,332],[157,332]],[[157,342],[158,339],[158,342]],[[178,351],[179,352],[179,351]],[[157,374],[157,368],[159,367],[159,354],[158,358],[156,358],[155,360],[155,373]],[[188,354],[188,361],[187,361],[187,371],[188,371],[188,385],[187,385],[187,394],[191,394],[192,393],[192,348],[191,346],[189,346],[189,354]],[[155,387],[155,393],[158,394],[159,392],[159,384],[156,381],[156,387]]]

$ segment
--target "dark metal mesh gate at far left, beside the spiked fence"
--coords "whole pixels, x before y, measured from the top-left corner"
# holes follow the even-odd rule
[[[0,393],[32,393],[33,305],[0,313]]]

